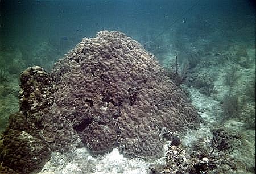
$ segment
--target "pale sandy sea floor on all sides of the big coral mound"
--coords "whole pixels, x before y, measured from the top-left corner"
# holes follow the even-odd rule
[[[237,134],[240,139],[231,144],[233,150],[227,154],[228,158],[236,162],[236,170],[230,173],[254,173],[255,169],[255,96],[254,100],[243,102],[243,110],[236,117],[227,117],[224,113],[223,102],[225,95],[239,93],[238,97],[246,99],[245,88],[249,79],[255,79],[255,48],[247,49],[247,56],[253,59],[252,65],[248,67],[241,66],[242,63],[236,63],[229,57],[236,55],[237,49],[234,43],[226,50],[215,50],[201,57],[201,60],[213,61],[209,65],[199,66],[196,71],[203,74],[213,74],[214,92],[208,94],[202,93],[200,88],[189,84],[182,85],[184,90],[189,92],[193,106],[199,111],[202,118],[202,123],[197,130],[188,130],[183,135],[180,135],[183,146],[189,151],[193,143],[198,139],[203,138],[210,141],[212,130],[217,128],[225,129],[226,132]],[[1,55],[3,56],[3,55]],[[218,57],[218,60],[216,59]],[[171,51],[163,55],[164,63],[174,59],[175,54]],[[215,57],[215,58],[214,58]],[[224,63],[218,63],[221,59]],[[242,64],[243,65],[243,64]],[[167,65],[164,65],[165,67]],[[230,87],[227,85],[226,78],[229,71],[236,67],[237,78],[235,84]],[[238,75],[239,74],[239,75]],[[0,131],[4,130],[7,124],[9,114],[18,111],[18,90],[19,82],[17,76],[6,75],[9,77],[8,85],[0,84]],[[232,88],[232,89],[231,89]],[[243,97],[245,96],[245,97]],[[168,146],[166,142],[166,147]],[[147,173],[147,168],[151,164],[163,164],[164,157],[157,161],[145,161],[143,159],[127,159],[119,154],[115,148],[110,154],[92,156],[86,148],[60,154],[52,152],[51,160],[45,165],[41,174],[46,173]]]

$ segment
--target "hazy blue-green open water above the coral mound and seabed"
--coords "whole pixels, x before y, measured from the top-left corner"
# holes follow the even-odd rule
[[[154,42],[163,51],[170,42],[198,38],[209,39],[211,48],[234,41],[254,47],[255,4],[167,0],[1,1],[0,50],[21,52],[22,69],[32,64],[48,68],[49,62],[61,57],[81,38],[90,38],[101,30],[120,30],[143,45]],[[163,43],[163,39],[167,42]],[[1,64],[9,64],[15,56],[1,59],[7,59]]]

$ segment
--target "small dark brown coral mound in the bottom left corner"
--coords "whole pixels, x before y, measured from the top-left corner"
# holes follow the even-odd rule
[[[50,158],[49,147],[35,130],[28,130],[22,113],[11,114],[0,140],[0,173],[40,171]]]

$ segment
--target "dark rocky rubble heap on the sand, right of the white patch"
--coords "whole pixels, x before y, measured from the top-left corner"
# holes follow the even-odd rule
[[[148,173],[237,173],[236,159],[228,155],[240,138],[224,129],[213,130],[212,138],[199,138],[191,149],[171,143],[163,164],[152,164]]]

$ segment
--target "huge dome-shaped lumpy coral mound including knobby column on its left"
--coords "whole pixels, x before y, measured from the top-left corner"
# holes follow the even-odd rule
[[[31,69],[39,69],[36,82]],[[20,111],[52,151],[118,147],[126,156],[153,158],[163,154],[163,127],[181,132],[200,124],[155,56],[119,31],[82,39],[51,72],[28,68],[21,81]]]

